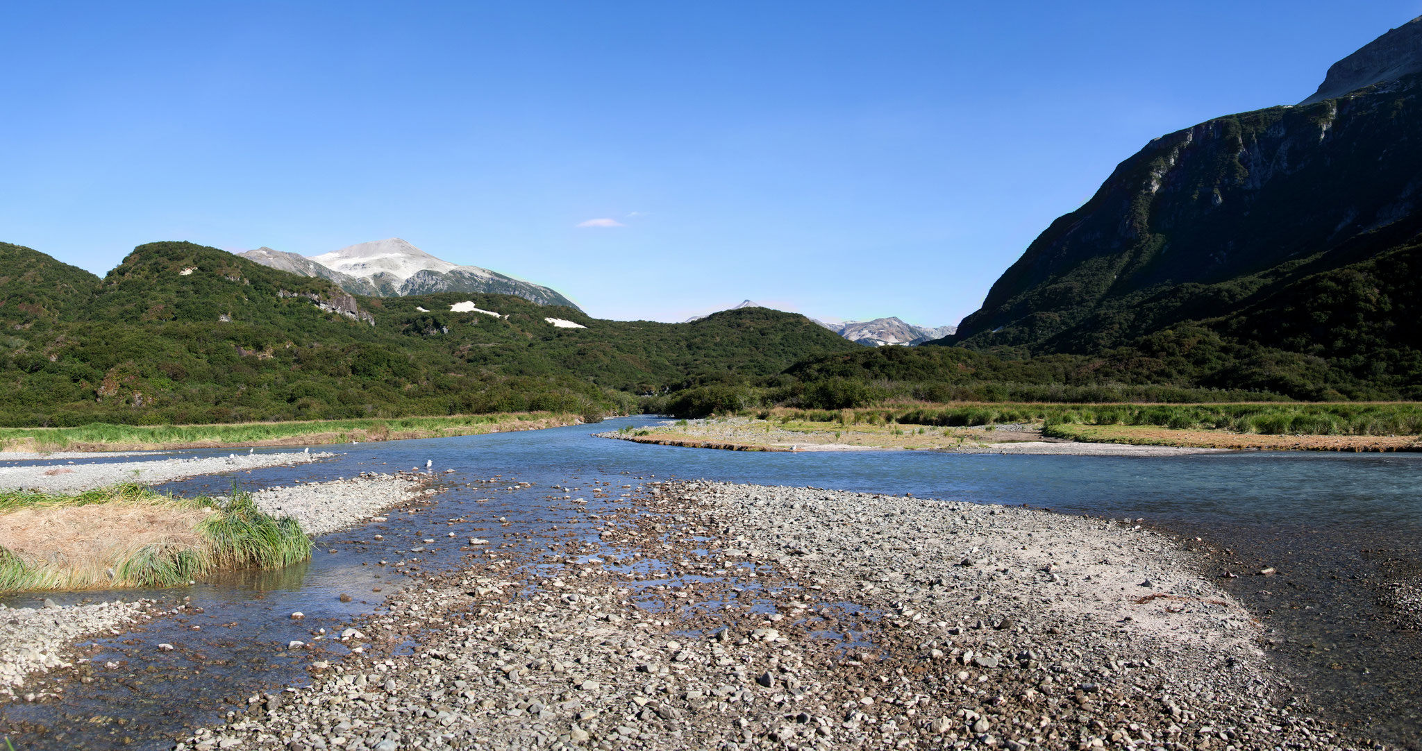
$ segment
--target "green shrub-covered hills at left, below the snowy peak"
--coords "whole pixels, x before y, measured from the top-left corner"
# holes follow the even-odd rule
[[[859,347],[766,309],[668,324],[508,294],[361,297],[185,242],[139,246],[102,280],[13,245],[0,263],[6,425],[599,414]]]

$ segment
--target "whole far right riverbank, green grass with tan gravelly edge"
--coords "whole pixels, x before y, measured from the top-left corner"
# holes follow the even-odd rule
[[[975,404],[766,410],[600,434],[731,451],[1084,452],[1088,445],[1217,451],[1422,451],[1422,405]],[[1052,447],[1051,444],[1071,444]],[[1119,451],[1102,449],[1103,454]]]

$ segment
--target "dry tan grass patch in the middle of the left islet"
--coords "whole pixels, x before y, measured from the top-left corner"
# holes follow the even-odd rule
[[[199,545],[198,523],[210,512],[176,504],[23,508],[0,516],[0,548],[57,580],[97,586],[146,545]]]

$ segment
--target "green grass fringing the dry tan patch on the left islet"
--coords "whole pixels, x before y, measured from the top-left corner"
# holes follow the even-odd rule
[[[118,560],[95,562],[90,569],[77,572],[60,569],[48,560],[27,559],[0,546],[0,592],[179,586],[218,569],[272,569],[311,556],[311,539],[296,519],[263,513],[246,492],[233,494],[230,499],[218,502],[212,498],[185,499],[159,495],[141,485],[118,485],[78,495],[0,491],[0,523],[4,523],[4,512],[21,508],[92,504],[144,504],[173,509],[210,509],[210,512],[198,522],[196,545],[155,542],[127,550]]]

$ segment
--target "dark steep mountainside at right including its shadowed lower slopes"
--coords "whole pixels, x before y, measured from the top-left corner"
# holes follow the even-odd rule
[[[1203,327],[1344,380],[1416,383],[1419,94],[1405,75],[1155,139],[944,343],[1098,354]]]

